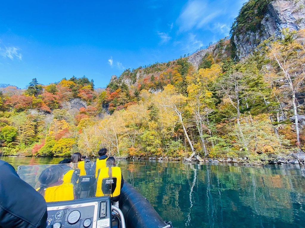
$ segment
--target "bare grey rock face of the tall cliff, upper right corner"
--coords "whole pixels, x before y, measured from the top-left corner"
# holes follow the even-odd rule
[[[304,0],[275,0],[268,5],[267,13],[261,21],[260,30],[234,36],[236,54],[242,59],[252,54],[255,48],[269,37],[283,37],[282,30],[305,29]]]

